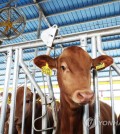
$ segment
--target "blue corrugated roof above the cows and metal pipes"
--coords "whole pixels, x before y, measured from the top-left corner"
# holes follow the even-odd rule
[[[37,0],[48,23],[52,26],[57,24],[60,28],[58,35],[72,34],[96,29],[102,29],[112,26],[120,26],[120,2],[118,0]],[[0,10],[8,3],[8,0],[0,1]],[[39,10],[33,0],[16,0],[12,4],[16,9],[22,12],[26,17],[26,26],[24,32],[19,37],[12,40],[4,40],[2,45],[15,44],[24,41],[36,40],[39,25]],[[5,16],[4,16],[5,18]],[[2,19],[0,19],[0,22]],[[45,19],[42,19],[41,30],[48,28]],[[3,30],[0,27],[0,30]],[[1,38],[1,33],[0,33]],[[79,41],[63,43],[63,47],[79,45]],[[114,58],[118,66],[120,65],[120,35],[102,37],[103,50]],[[88,40],[87,51],[91,55],[91,40]],[[46,47],[38,48],[38,55],[45,54]],[[54,53],[55,52],[55,53]],[[57,57],[62,52],[59,44],[56,45],[55,51],[52,50],[51,56]],[[99,55],[99,54],[98,54]],[[34,58],[34,49],[26,49],[23,54],[26,64]],[[14,57],[13,57],[14,58]],[[5,73],[5,55],[0,54],[0,84],[3,84]],[[12,70],[13,72],[13,70]],[[99,77],[107,77],[108,70],[102,71]],[[39,73],[38,73],[39,74]],[[116,73],[113,73],[116,76]],[[20,83],[24,79],[24,74],[20,74]],[[38,77],[38,78],[37,78]],[[12,77],[11,77],[12,79]],[[52,78],[56,80],[55,77]],[[39,75],[36,76],[39,81]],[[42,81],[42,78],[40,78]]]

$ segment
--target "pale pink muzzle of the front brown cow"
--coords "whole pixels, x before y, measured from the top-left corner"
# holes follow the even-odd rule
[[[72,95],[72,100],[80,105],[93,103],[94,93],[91,90],[76,90]]]

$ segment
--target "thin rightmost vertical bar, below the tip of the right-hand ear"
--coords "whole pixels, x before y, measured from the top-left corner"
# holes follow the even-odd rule
[[[115,134],[115,112],[114,112],[114,92],[113,92],[113,82],[112,82],[112,70],[110,67],[110,98],[111,98],[111,107],[112,107],[112,133]]]

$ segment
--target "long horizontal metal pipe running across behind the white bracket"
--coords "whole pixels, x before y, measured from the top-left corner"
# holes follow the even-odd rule
[[[96,35],[100,36],[108,36],[108,35],[115,35],[115,34],[120,34],[120,26],[114,26],[114,27],[109,27],[109,28],[104,28],[104,29],[98,29],[98,30],[91,30],[87,32],[78,32],[74,34],[68,34],[65,36],[58,36],[57,39],[54,40],[53,44],[59,44],[59,43],[66,43],[66,42],[72,42],[72,41],[79,41],[80,36],[86,35],[87,38],[91,38]],[[60,39],[58,39],[60,38]],[[6,46],[1,46],[0,47],[0,52],[6,51],[7,48],[12,47],[13,49],[16,48],[35,48],[35,47],[40,47],[44,46],[45,44],[42,42],[41,39],[37,40],[32,40],[28,42],[21,42],[18,44],[10,44]]]

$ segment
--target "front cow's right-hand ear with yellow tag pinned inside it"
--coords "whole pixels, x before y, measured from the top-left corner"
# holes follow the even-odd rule
[[[102,70],[113,63],[113,58],[107,55],[101,55],[92,60],[92,68]]]

